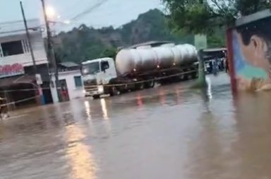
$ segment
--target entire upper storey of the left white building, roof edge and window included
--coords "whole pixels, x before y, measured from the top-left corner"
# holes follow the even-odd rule
[[[28,20],[28,28],[36,64],[47,64],[40,21]],[[23,21],[0,23],[0,57],[1,65],[16,63],[22,64],[23,67],[33,65]]]

